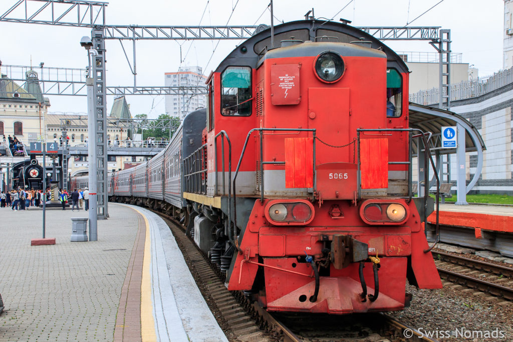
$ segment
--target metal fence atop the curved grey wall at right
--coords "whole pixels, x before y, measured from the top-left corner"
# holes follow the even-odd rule
[[[513,83],[513,68],[499,71],[491,76],[481,77],[476,81],[465,81],[450,85],[450,100],[457,101],[484,95]],[[410,102],[420,105],[433,105],[439,103],[440,89],[432,88],[410,94]]]

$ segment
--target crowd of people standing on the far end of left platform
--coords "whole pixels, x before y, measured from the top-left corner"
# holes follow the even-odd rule
[[[45,193],[43,190],[24,190],[22,188],[13,189],[11,191],[0,192],[0,208],[11,208],[12,210],[27,210],[31,206],[39,207],[45,200],[50,198],[50,188],[47,188]],[[58,201],[61,202],[63,210],[66,210],[66,204],[71,200],[71,210],[80,210],[81,208],[86,211],[89,210],[89,190],[85,188],[74,189],[71,194],[65,189],[60,189],[58,192]]]

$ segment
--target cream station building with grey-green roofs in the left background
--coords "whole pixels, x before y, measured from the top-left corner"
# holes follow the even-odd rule
[[[0,77],[0,178],[6,178],[7,163],[21,161],[21,157],[8,157],[5,148],[9,148],[8,136],[16,136],[27,147],[30,142],[42,141],[61,142],[63,127],[67,129],[68,146],[86,146],[89,141],[87,115],[52,114],[48,112],[50,101],[42,95],[38,73],[34,70],[26,72],[24,87],[19,86],[7,75]],[[110,119],[131,119],[130,108],[124,96],[114,99]],[[123,125],[121,125],[123,126]],[[130,133],[128,130],[113,125],[109,120],[107,139],[110,144],[123,142]],[[6,141],[3,141],[3,136]],[[4,152],[2,152],[4,151]],[[20,159],[20,160],[17,160]],[[108,169],[124,169],[142,161],[142,157],[108,156]],[[51,160],[48,158],[47,167]],[[87,156],[72,156],[68,162],[68,173],[71,176],[88,173]]]

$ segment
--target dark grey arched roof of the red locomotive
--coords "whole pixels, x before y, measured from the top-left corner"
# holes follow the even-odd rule
[[[396,68],[399,72],[409,72],[401,57],[379,39],[343,23],[301,20],[274,27],[274,46],[276,48],[281,46],[281,41],[291,39],[303,42],[321,42],[322,39],[322,42],[331,43],[351,43],[363,39],[363,41],[370,42],[373,49],[382,50],[386,54],[387,67]],[[268,28],[253,35],[236,47],[221,62],[215,72],[222,72],[226,67],[236,65],[256,67],[265,53],[271,50],[270,45],[271,30]],[[356,47],[357,45],[353,46]]]

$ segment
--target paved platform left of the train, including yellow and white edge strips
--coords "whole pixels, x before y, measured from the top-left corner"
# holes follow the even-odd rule
[[[227,341],[164,220],[109,204],[96,242],[70,242],[71,218],[0,209],[0,341]]]

